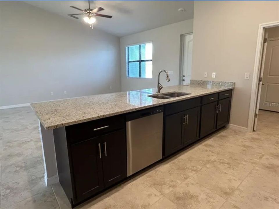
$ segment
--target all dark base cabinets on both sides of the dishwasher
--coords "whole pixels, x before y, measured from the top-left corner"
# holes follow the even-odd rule
[[[229,122],[231,91],[164,106],[163,156]],[[53,130],[59,181],[72,207],[127,177],[125,115]]]

